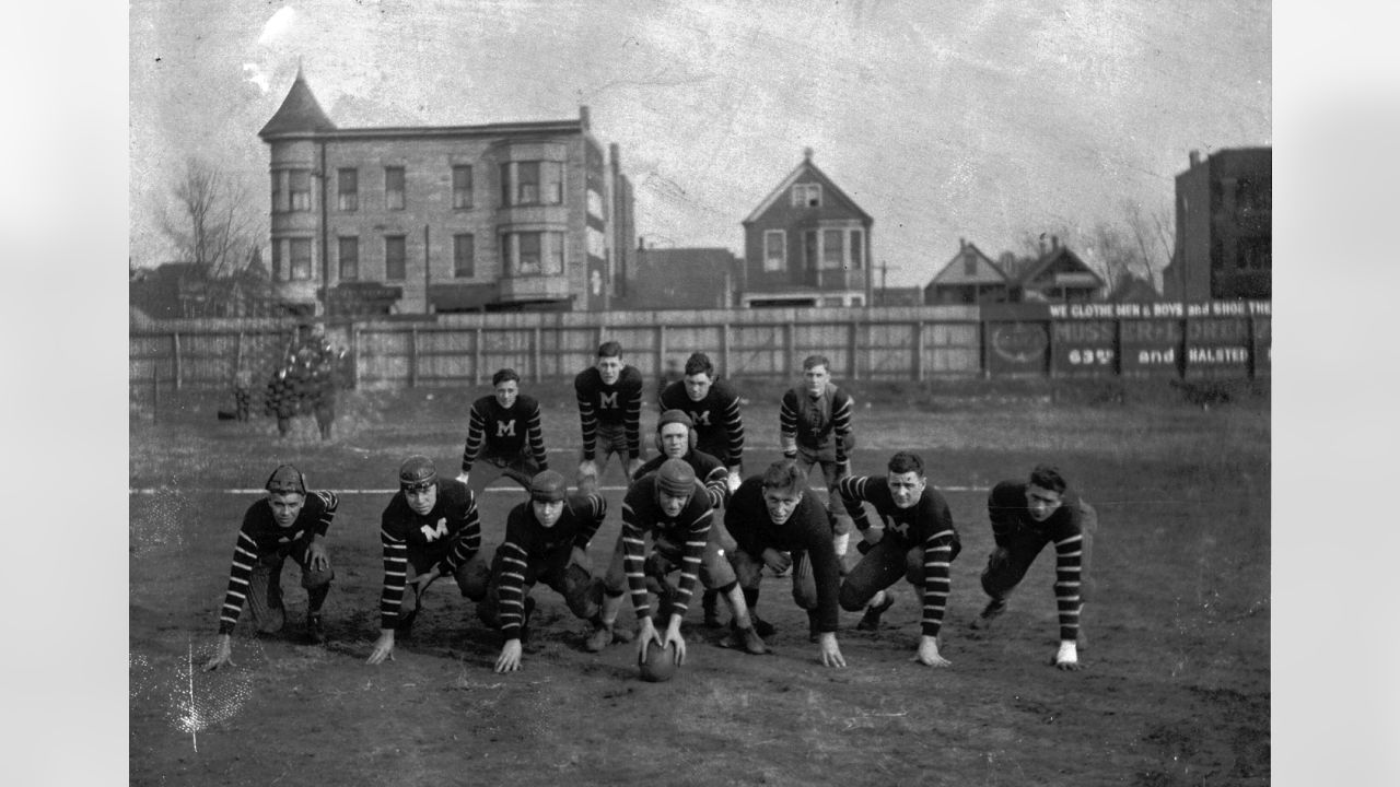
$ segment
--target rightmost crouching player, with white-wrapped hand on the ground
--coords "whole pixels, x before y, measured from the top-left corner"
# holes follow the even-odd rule
[[[1026,483],[1004,480],[991,489],[987,515],[997,548],[981,573],[981,590],[987,591],[991,601],[972,627],[984,630],[1007,611],[1007,597],[1026,576],[1044,545],[1054,542],[1060,650],[1053,664],[1060,669],[1078,669],[1077,641],[1082,636],[1079,613],[1093,587],[1089,580],[1089,553],[1099,524],[1098,513],[1067,489],[1056,468],[1036,465]]]

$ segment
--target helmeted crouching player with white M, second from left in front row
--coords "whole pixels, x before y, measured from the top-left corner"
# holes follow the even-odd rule
[[[379,594],[379,639],[370,664],[393,658],[393,634],[409,636],[423,594],[438,577],[451,576],[462,595],[482,601],[487,567],[477,556],[482,524],[476,497],[465,483],[438,478],[433,459],[409,457],[399,465],[399,492],[384,510],[384,591]],[[405,592],[407,588],[407,592]]]

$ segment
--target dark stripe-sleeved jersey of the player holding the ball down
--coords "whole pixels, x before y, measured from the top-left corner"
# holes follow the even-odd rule
[[[694,483],[690,500],[675,518],[666,517],[661,504],[657,503],[657,473],[641,476],[623,496],[623,570],[627,574],[631,608],[637,612],[638,620],[651,612],[647,599],[647,577],[643,571],[647,532],[652,534],[652,541],[664,538],[682,548],[680,583],[672,599],[672,612],[683,618],[690,608],[690,595],[700,578],[700,559],[710,538],[713,518],[714,510],[710,508],[710,499],[699,482]]]

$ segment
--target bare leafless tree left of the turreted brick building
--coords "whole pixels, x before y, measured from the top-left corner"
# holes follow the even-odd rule
[[[193,263],[206,279],[242,270],[253,241],[248,190],[207,161],[190,157],[171,189],[175,210],[161,210],[161,231],[181,262]]]

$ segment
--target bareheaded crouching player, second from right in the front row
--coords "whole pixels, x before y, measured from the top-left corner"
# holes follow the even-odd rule
[[[841,608],[858,612],[869,604],[858,627],[875,630],[881,613],[895,604],[885,588],[900,577],[907,578],[924,608],[923,636],[914,661],[948,667],[951,662],[938,655],[938,630],[944,625],[951,588],[948,566],[962,550],[962,539],[953,528],[948,501],[928,486],[924,461],[918,454],[900,451],[890,457],[883,479],[848,478],[841,480],[837,492],[865,543],[871,545],[841,583]],[[862,503],[875,508],[882,528],[871,528]]]

